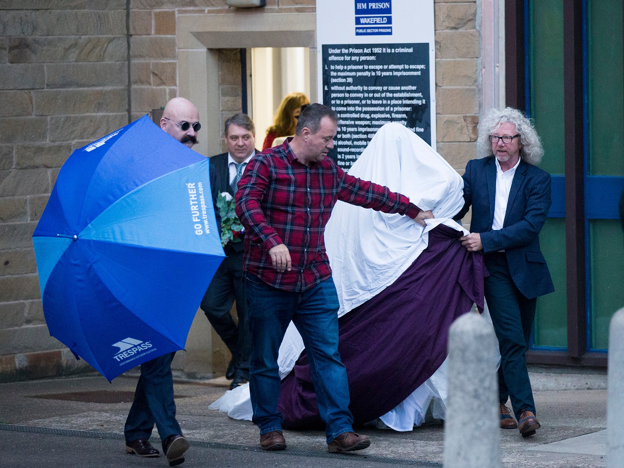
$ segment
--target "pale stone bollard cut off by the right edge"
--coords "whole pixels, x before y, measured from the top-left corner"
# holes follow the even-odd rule
[[[609,325],[607,468],[624,467],[624,308]]]

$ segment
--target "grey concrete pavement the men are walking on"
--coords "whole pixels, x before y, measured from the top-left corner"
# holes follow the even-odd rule
[[[539,387],[539,377],[534,378],[535,387]],[[565,380],[565,375],[558,378]],[[12,428],[3,425],[0,429],[4,466],[147,466],[146,463],[167,466],[163,457],[149,461],[123,453],[122,434],[130,401],[90,403],[32,397],[67,392],[132,392],[135,385],[136,378],[127,376],[121,376],[111,384],[101,376],[0,384],[0,423],[14,425]],[[579,385],[560,388],[579,388]],[[347,459],[326,452],[324,432],[285,431],[288,450],[282,454],[266,454],[256,450],[258,429],[251,422],[235,421],[208,409],[208,405],[223,392],[225,388],[215,386],[214,381],[175,384],[175,394],[180,396],[176,399],[178,421],[192,445],[188,461],[183,466],[199,466],[201,463],[202,466],[219,467],[228,464],[233,467],[373,467],[387,466],[388,463],[397,466],[441,466],[442,463],[442,424],[417,427],[412,432],[358,428],[356,430],[370,436],[373,443],[369,449],[347,456]],[[599,442],[604,437],[599,431],[606,428],[606,390],[538,391],[535,401],[542,429],[527,439],[520,437],[516,430],[502,431],[504,466],[605,466],[604,449],[600,448]],[[33,429],[38,432],[6,430],[20,429],[16,426],[49,429]],[[71,436],[65,435],[64,429],[102,434],[79,432],[79,436]],[[466,430],[470,431],[470,427]],[[157,431],[153,437],[156,436]],[[579,436],[584,438],[574,439]]]

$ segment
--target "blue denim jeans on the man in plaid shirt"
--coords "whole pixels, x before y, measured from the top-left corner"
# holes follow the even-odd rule
[[[278,351],[292,320],[303,338],[327,443],[353,431],[349,384],[338,354],[338,294],[331,278],[303,293],[273,288],[255,275],[245,274],[251,328],[250,392],[253,421],[260,435],[281,431]]]

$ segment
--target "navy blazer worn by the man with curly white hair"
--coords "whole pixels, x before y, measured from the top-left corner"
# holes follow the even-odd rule
[[[539,240],[551,203],[550,174],[520,160],[507,198],[503,228],[494,231],[494,156],[470,160],[462,178],[464,208],[454,219],[463,218],[472,205],[470,232],[480,233],[484,253],[505,250],[509,271],[520,293],[529,299],[552,293],[555,287]]]

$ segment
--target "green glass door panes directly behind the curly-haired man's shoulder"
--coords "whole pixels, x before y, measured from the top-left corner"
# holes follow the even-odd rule
[[[527,114],[544,145],[540,167],[553,175],[553,195],[562,188],[565,167],[563,132],[563,0],[530,0]],[[555,197],[553,197],[555,198]],[[557,200],[555,200],[556,202]],[[540,233],[540,246],[555,284],[555,292],[537,300],[534,346],[567,347],[565,286],[565,219],[553,208]]]

